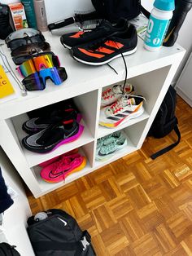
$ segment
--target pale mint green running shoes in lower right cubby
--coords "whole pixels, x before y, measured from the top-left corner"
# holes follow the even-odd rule
[[[127,139],[120,131],[114,132],[111,135],[107,135],[101,139],[98,139],[96,160],[106,161],[110,157],[114,156],[117,151],[124,148],[126,145]]]

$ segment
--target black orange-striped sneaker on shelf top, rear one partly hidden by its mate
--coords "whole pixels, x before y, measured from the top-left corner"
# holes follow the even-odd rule
[[[80,31],[76,33],[68,33],[61,36],[60,41],[64,47],[71,49],[87,42],[94,42],[99,38],[107,38],[116,33],[125,31],[128,28],[128,21],[120,19],[116,25],[112,25],[107,20],[102,20],[96,29],[92,31]]]

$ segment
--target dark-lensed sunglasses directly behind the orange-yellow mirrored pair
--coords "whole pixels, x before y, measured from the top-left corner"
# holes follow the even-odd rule
[[[41,52],[50,52],[50,44],[48,42],[30,43],[26,46],[20,46],[15,51],[11,51],[11,57],[16,65],[20,65]]]

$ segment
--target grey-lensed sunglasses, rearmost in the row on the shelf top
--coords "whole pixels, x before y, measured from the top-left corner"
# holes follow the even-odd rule
[[[20,46],[27,46],[30,43],[41,43],[41,42],[45,42],[46,39],[43,37],[43,35],[37,34],[35,36],[32,37],[25,37],[25,38],[16,38],[11,40],[10,42],[7,42],[7,47],[11,48],[11,51],[15,51],[15,49],[17,49]]]

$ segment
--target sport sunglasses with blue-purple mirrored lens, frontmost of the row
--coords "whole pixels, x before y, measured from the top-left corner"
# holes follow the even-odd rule
[[[46,80],[50,79],[55,85],[59,86],[68,78],[65,68],[46,68],[40,72],[25,77],[22,81],[26,90],[44,90],[46,88]]]

